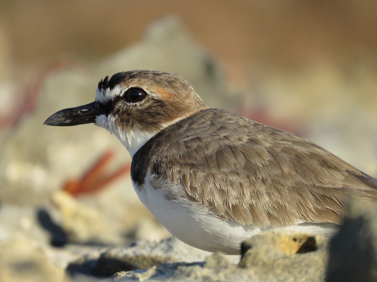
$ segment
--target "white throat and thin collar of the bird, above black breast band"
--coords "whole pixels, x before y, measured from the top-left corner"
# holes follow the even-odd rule
[[[124,130],[121,127],[116,126],[115,118],[113,115],[109,114],[106,116],[105,114],[100,115],[95,120],[95,125],[103,127],[111,134],[115,135],[119,141],[123,144],[124,147],[128,150],[131,155],[131,158],[135,155],[135,153],[144,146],[145,143],[149,141],[150,138],[155,136],[159,133],[162,129],[178,122],[182,118],[177,118],[169,123],[161,124],[161,128],[156,131],[143,131],[139,128],[133,128],[132,130]]]

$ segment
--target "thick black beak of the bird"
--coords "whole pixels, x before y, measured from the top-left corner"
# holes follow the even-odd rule
[[[64,109],[51,115],[43,124],[54,126],[72,126],[86,123],[95,123],[95,119],[104,114],[98,109],[96,102]]]

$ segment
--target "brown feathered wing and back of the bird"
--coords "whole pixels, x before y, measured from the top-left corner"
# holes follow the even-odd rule
[[[258,227],[339,223],[345,198],[377,202],[377,180],[325,149],[207,109],[164,130],[159,173],[219,218]],[[169,140],[169,141],[167,141]]]

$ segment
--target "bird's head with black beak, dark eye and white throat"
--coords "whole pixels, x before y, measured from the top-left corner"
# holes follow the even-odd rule
[[[116,135],[133,156],[162,129],[207,108],[182,77],[135,70],[106,76],[98,83],[95,102],[58,111],[44,124],[94,123]]]

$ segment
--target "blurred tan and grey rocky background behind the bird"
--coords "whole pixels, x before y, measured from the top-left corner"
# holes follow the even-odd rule
[[[0,1],[0,240],[31,241],[63,269],[99,246],[169,236],[114,136],[42,125],[118,71],[179,74],[210,107],[376,177],[376,11],[372,0]]]

